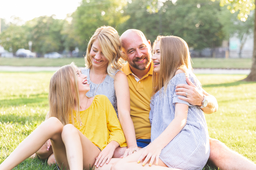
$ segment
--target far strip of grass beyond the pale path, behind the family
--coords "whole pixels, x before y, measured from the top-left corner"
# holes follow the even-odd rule
[[[74,61],[84,66],[84,58],[1,58],[0,65],[10,66],[63,66]],[[251,58],[192,58],[193,68],[251,68]]]

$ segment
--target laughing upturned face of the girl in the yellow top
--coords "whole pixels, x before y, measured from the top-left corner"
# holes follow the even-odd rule
[[[87,93],[90,91],[90,85],[87,82],[87,76],[81,73],[81,70],[75,67],[77,75],[78,93]]]

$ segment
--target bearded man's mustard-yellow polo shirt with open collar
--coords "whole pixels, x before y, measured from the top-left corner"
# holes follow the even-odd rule
[[[153,62],[151,63],[149,72],[138,82],[135,80],[128,62],[124,64],[121,71],[126,74],[129,83],[131,118],[136,139],[150,139],[151,126],[149,122],[149,111],[153,91]]]

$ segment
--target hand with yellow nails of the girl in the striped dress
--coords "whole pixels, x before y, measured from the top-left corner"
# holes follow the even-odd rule
[[[153,141],[146,147],[146,149],[144,149],[144,152],[142,152],[140,158],[138,159],[138,163],[140,163],[145,158],[145,160],[142,163],[142,165],[144,166],[148,162],[148,160],[151,158],[149,162],[149,166],[152,165],[154,160],[156,160],[156,165],[157,165],[161,150],[162,148],[160,147],[160,145],[157,142]]]

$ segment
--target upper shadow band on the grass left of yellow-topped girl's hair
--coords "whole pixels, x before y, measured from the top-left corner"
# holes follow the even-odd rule
[[[12,96],[13,98],[17,98],[17,96]],[[32,94],[29,96],[29,98],[26,97],[19,97],[17,99],[4,99],[0,100],[0,107],[6,107],[6,106],[23,106],[23,105],[29,105],[29,104],[39,104],[46,102],[48,94],[47,93],[40,93],[40,94]]]

